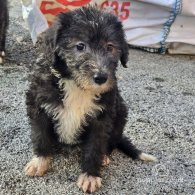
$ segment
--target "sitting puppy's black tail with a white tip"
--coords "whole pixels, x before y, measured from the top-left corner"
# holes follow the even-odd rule
[[[143,161],[157,161],[157,158],[150,155],[143,153],[142,151],[138,150],[131,141],[125,137],[122,136],[120,142],[117,145],[117,148],[121,150],[123,153],[125,153],[127,156],[131,157],[132,159],[140,159]]]

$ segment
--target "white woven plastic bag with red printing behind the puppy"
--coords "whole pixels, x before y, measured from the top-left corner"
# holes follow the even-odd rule
[[[118,16],[128,43],[151,52],[195,54],[194,0],[23,0],[33,42],[56,14],[95,4]]]

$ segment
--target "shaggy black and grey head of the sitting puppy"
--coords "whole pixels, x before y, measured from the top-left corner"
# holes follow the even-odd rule
[[[119,61],[126,67],[128,45],[121,22],[112,14],[94,7],[61,13],[49,36],[52,68],[82,89],[109,91],[116,84]]]

